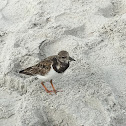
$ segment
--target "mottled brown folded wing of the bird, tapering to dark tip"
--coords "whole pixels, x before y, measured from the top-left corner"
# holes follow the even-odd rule
[[[51,60],[44,60],[34,66],[19,71],[19,73],[26,75],[36,75],[36,74],[45,75],[51,69],[51,65],[52,65]]]

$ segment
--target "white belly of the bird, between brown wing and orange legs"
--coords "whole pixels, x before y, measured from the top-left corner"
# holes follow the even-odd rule
[[[51,66],[50,71],[45,75],[37,75],[37,78],[42,80],[42,81],[50,81],[51,79],[58,77],[60,75],[60,73],[57,73]]]

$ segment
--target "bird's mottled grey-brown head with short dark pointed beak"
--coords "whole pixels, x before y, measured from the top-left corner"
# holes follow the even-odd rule
[[[58,60],[61,62],[61,63],[69,63],[70,61],[75,61],[73,58],[71,58],[69,56],[69,53],[67,51],[60,51],[58,53]]]

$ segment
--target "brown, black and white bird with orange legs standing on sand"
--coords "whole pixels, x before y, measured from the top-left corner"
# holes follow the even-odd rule
[[[59,91],[55,89],[52,79],[62,75],[68,69],[71,61],[75,61],[75,59],[70,57],[67,51],[62,50],[57,55],[49,56],[38,64],[19,71],[19,73],[37,77],[41,80],[47,93],[54,92],[56,94]],[[50,81],[53,90],[46,88],[45,82],[48,81]]]

